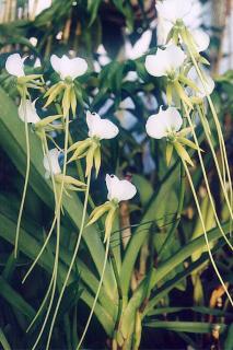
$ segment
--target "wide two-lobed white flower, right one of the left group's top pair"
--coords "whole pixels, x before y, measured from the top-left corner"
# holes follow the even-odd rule
[[[74,80],[78,77],[83,75],[88,70],[88,63],[83,58],[75,57],[69,58],[63,55],[59,58],[53,55],[50,58],[51,67],[60,75],[61,80],[70,78]]]

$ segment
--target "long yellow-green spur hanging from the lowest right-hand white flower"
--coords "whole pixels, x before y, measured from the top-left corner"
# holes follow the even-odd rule
[[[229,300],[230,300],[230,302],[232,304],[232,306],[233,306],[233,300],[232,300],[232,298],[231,298],[231,295],[230,295],[230,293],[228,291],[228,288],[225,287],[225,283],[224,283],[223,279],[222,279],[222,277],[221,277],[221,275],[220,275],[220,272],[218,270],[218,267],[215,265],[215,261],[214,261],[212,253],[211,253],[211,248],[210,248],[208,234],[207,234],[206,225],[205,225],[205,222],[203,222],[200,205],[199,205],[199,201],[198,201],[198,198],[197,198],[197,194],[196,194],[196,190],[195,190],[195,186],[193,184],[193,179],[191,179],[189,170],[188,170],[185,161],[183,161],[183,164],[184,164],[187,177],[188,177],[188,182],[189,182],[190,187],[191,187],[193,196],[194,196],[194,199],[195,199],[195,202],[196,202],[196,207],[197,207],[197,210],[198,210],[198,214],[199,214],[199,218],[200,218],[200,222],[201,222],[201,225],[202,225],[202,229],[203,229],[205,241],[206,241],[206,245],[207,245],[207,249],[208,249],[208,253],[209,253],[210,260],[212,262],[212,267],[213,267],[213,269],[214,269],[214,271],[215,271],[215,273],[217,273],[217,276],[218,276],[218,278],[219,278],[219,280],[220,280],[220,282],[221,282],[221,284],[222,284],[222,287],[223,287],[223,289],[224,289],[224,291],[225,291],[225,293],[226,293],[226,295],[228,295],[228,298],[229,298]]]

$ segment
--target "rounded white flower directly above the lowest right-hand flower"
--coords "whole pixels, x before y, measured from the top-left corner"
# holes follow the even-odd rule
[[[145,58],[145,69],[153,77],[168,77],[177,73],[186,58],[185,52],[176,45],[158,48],[155,55]]]

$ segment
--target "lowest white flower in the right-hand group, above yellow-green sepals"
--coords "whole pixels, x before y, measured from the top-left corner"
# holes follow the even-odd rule
[[[160,140],[178,132],[182,125],[182,116],[175,107],[168,107],[166,110],[161,107],[158,114],[149,117],[145,130],[151,138]]]

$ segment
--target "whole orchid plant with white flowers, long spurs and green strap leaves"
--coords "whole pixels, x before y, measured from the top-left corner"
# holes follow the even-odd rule
[[[231,250],[233,245],[231,237],[226,234],[229,225],[222,224],[221,215],[215,207],[208,171],[205,166],[203,158],[207,150],[202,147],[202,143],[200,145],[197,133],[197,127],[201,128],[206,143],[210,149],[225,210],[228,217],[230,217],[231,231],[233,220],[231,172],[220,120],[211,97],[215,83],[205,68],[209,62],[202,56],[202,51],[209,47],[210,37],[202,30],[194,28],[189,25],[189,18],[194,11],[194,1],[159,0],[156,1],[156,11],[159,25],[160,23],[164,25],[164,43],[156,48],[155,54],[145,54],[143,62],[138,60],[136,67],[138,65],[140,69],[143,68],[141,77],[144,80],[149,80],[149,84],[145,84],[147,96],[143,97],[150,95],[149,97],[152,100],[154,90],[151,89],[151,85],[154,88],[158,82],[163,94],[161,93],[160,103],[151,108],[151,113],[147,109],[145,122],[141,135],[132,132],[131,136],[135,139],[138,138],[147,142],[148,148],[149,144],[154,144],[153,142],[155,142],[158,149],[163,148],[166,161],[164,164],[166,164],[167,168],[179,168],[178,208],[172,214],[174,221],[168,224],[167,237],[162,247],[158,249],[156,256],[158,259],[165,256],[167,245],[173,242],[180,224],[182,214],[185,210],[187,179],[203,233],[203,237],[200,237],[199,243],[197,243],[197,249],[203,248],[203,244],[206,244],[205,252],[208,252],[208,258],[212,264],[221,288],[233,306],[229,285],[223,280],[214,260],[215,250],[213,252],[213,248],[215,249],[215,247],[212,242],[222,237],[222,241]],[[119,141],[119,147],[126,153],[128,151],[128,144],[124,144],[123,141],[125,130],[118,125],[117,118],[112,119],[112,116],[118,115],[118,109],[121,108],[121,97],[124,98],[130,84],[136,83],[127,81],[127,79],[123,81],[121,83],[125,84],[125,88],[120,92],[120,96],[118,96],[116,93],[117,79],[115,79],[116,90],[110,90],[107,82],[107,88],[104,88],[104,93],[102,94],[109,94],[109,98],[106,98],[106,105],[110,101],[110,107],[106,109],[106,106],[100,106],[101,100],[98,100],[100,91],[96,88],[96,80],[100,75],[100,86],[103,84],[103,80],[106,79],[107,81],[108,77],[114,74],[109,67],[103,68],[100,74],[94,72],[90,79],[92,86],[88,89],[86,80],[83,83],[82,79],[89,75],[86,73],[91,74],[92,67],[88,65],[84,58],[69,58],[67,55],[60,58],[57,55],[51,55],[53,83],[50,80],[47,81],[47,72],[45,74],[27,74],[26,59],[27,57],[21,58],[19,54],[13,54],[5,61],[8,79],[13,81],[18,90],[18,97],[20,97],[20,100],[16,100],[19,102],[18,115],[20,120],[24,122],[26,140],[26,173],[15,232],[15,258],[19,246],[21,246],[20,232],[22,231],[23,233],[21,222],[30,184],[31,163],[34,162],[32,158],[32,152],[34,152],[33,142],[38,142],[39,144],[38,159],[40,163],[37,172],[43,173],[43,184],[53,192],[53,199],[50,200],[54,208],[53,221],[46,233],[46,238],[36,249],[33,262],[23,278],[24,283],[37,265],[49,265],[50,278],[48,288],[38,311],[31,317],[27,328],[27,331],[33,331],[33,327],[38,320],[42,320],[39,330],[37,331],[36,329],[37,335],[33,340],[32,349],[39,349],[43,338],[46,338],[44,349],[50,349],[56,320],[63,307],[65,295],[70,292],[72,283],[77,281],[77,267],[81,271],[82,298],[89,306],[90,313],[79,339],[77,337],[77,324],[73,322],[75,341],[73,341],[72,348],[81,349],[92,316],[96,314],[98,322],[109,336],[109,347],[113,350],[139,349],[142,327],[147,325],[147,317],[150,317],[151,313],[154,312],[158,300],[161,300],[160,293],[163,295],[170,290],[170,285],[166,287],[166,283],[164,283],[165,287],[163,284],[161,287],[163,279],[166,282],[167,273],[171,272],[170,266],[165,265],[165,261],[162,267],[159,266],[158,268],[153,261],[152,252],[151,265],[148,267],[149,250],[154,246],[154,237],[151,238],[150,235],[152,230],[151,221],[145,223],[142,221],[141,223],[141,225],[150,224],[145,243],[144,234],[140,230],[137,229],[137,235],[132,235],[130,211],[137,210],[140,212],[143,209],[138,205],[139,196],[141,202],[143,201],[142,207],[149,207],[150,205],[150,201],[143,197],[143,188],[141,190],[138,185],[139,179],[137,180],[137,177],[133,176],[132,180],[130,176],[124,177],[124,165],[121,164],[115,166],[117,175],[108,174],[113,170],[112,164],[107,164],[107,171],[103,171],[105,155],[107,153],[112,159],[110,148],[116,140]],[[116,75],[119,68],[120,65],[117,66],[116,63]],[[144,83],[141,77],[136,78],[138,84],[136,85],[139,88]],[[83,96],[88,94],[90,94],[90,98],[84,101]],[[35,98],[35,95],[37,98]],[[133,97],[136,100],[139,98],[139,94]],[[147,105],[148,101],[143,101],[143,103]],[[211,118],[208,115],[208,106],[211,110]],[[103,113],[104,108],[106,113]],[[135,109],[133,101],[131,108]],[[96,113],[90,110],[96,110]],[[212,125],[214,126],[214,135],[211,131]],[[79,131],[78,138],[75,137],[77,133],[72,132],[72,128]],[[220,154],[218,154],[217,148]],[[133,151],[135,153],[132,154],[138,155],[138,149]],[[140,149],[141,153],[143,151]],[[129,151],[128,153],[130,154]],[[150,161],[153,162],[154,153],[149,153]],[[154,158],[156,158],[156,154]],[[130,163],[130,155],[128,162]],[[207,192],[206,197],[218,234],[208,234],[209,229],[206,224],[200,196],[196,190],[194,178],[198,164],[200,165],[202,183]],[[105,202],[100,201],[97,198],[92,198],[93,188],[95,186],[98,187],[103,176],[107,190]],[[144,179],[142,187],[143,184],[145,184]],[[150,189],[153,192],[153,188],[150,187]],[[131,199],[135,200],[133,205],[130,205]],[[98,205],[95,205],[95,201]],[[162,206],[162,201],[163,198],[159,197],[156,202],[158,210],[160,205]],[[70,208],[72,214],[69,212]],[[151,218],[150,209],[148,212],[149,218]],[[121,221],[125,220],[125,224],[120,223],[120,229],[118,218]],[[69,254],[68,262],[65,264],[65,257],[70,253],[69,244],[67,244],[66,252],[61,248],[62,240],[66,241],[62,232],[62,223],[66,222],[66,219],[69,219],[72,224],[75,223],[74,228],[78,233],[72,232],[72,253]],[[158,221],[159,219],[153,223],[158,224]],[[156,230],[159,231],[158,228]],[[127,231],[129,240],[123,248],[115,252],[113,248],[114,237],[115,235],[120,237],[120,231]],[[54,232],[56,232],[55,237],[53,237]],[[193,245],[193,241],[190,245]],[[44,257],[46,252],[49,259],[51,257],[49,262]],[[92,268],[89,268],[88,264],[83,262],[83,252],[85,252],[90,261],[93,260]],[[184,259],[180,257],[182,254]],[[166,258],[168,262],[172,261],[174,267],[177,267],[190,256],[190,252],[186,250],[185,247],[182,254]],[[121,255],[124,256],[123,260]],[[137,265],[140,265],[140,273],[138,275]],[[197,266],[203,266],[202,260]],[[93,271],[97,272],[98,279]],[[145,271],[149,272],[145,273]],[[89,288],[85,288],[88,283],[90,283]],[[175,280],[174,283],[176,287],[177,281]],[[75,310],[74,318],[77,318],[77,314],[79,314],[78,310]],[[69,317],[66,322],[70,322]],[[69,339],[69,335],[67,338]]]

